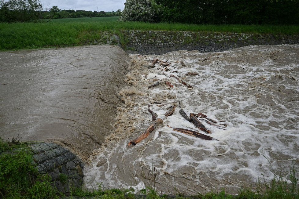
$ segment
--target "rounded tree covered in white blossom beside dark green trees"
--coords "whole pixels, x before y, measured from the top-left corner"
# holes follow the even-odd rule
[[[127,0],[120,21],[157,21],[159,6],[154,0]]]

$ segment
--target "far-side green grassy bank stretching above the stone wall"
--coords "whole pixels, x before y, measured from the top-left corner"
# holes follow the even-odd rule
[[[0,23],[0,50],[35,49],[89,45],[101,37],[100,31],[163,30],[254,34],[299,34],[292,25],[195,25],[120,22],[116,17],[55,19],[48,23]]]

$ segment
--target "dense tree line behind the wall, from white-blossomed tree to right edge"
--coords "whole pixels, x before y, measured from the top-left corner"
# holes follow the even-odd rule
[[[299,24],[299,0],[127,0],[123,21]]]

